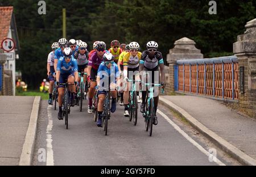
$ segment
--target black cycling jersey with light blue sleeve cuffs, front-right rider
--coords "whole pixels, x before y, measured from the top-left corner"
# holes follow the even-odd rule
[[[158,69],[159,64],[163,63],[163,56],[159,51],[156,51],[154,57],[150,58],[148,56],[148,51],[145,50],[142,53],[141,60],[139,61],[139,64],[144,64],[144,67],[148,70],[156,70]]]

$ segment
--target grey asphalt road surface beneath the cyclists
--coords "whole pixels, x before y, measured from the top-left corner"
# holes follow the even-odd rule
[[[78,106],[71,107],[66,129],[64,120],[57,119],[57,110],[48,106],[47,100],[42,100],[32,165],[220,165],[210,162],[203,151],[159,113],[158,125],[153,127],[150,137],[142,114],[138,113],[138,123],[134,126],[123,116],[123,106],[118,104],[109,120],[108,136],[105,136],[104,128],[97,127],[93,114],[87,113],[87,100],[85,102],[82,112]],[[168,109],[159,108],[171,120],[175,119]],[[188,125],[179,126],[189,135]],[[205,149],[210,144],[202,138],[192,139]],[[237,165],[233,159],[227,160],[225,153],[219,154],[217,158],[225,165]]]

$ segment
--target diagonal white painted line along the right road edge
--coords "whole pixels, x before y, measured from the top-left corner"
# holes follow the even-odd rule
[[[193,144],[194,146],[197,147],[197,149],[199,149],[202,153],[204,153],[205,155],[207,155],[208,157],[210,157],[212,154],[209,153],[209,151],[205,150],[204,147],[202,147],[201,145],[199,145],[195,140],[193,140],[191,137],[188,136],[187,133],[185,133],[183,130],[181,130],[181,128],[179,126],[177,126],[167,115],[165,115],[162,111],[160,111],[158,109],[158,113],[160,113],[161,116],[164,117],[164,119],[166,119],[168,121],[169,124],[172,125],[172,127],[174,127],[177,132],[179,132],[182,136],[184,136],[189,142],[191,142],[191,144]],[[222,163],[219,159],[217,159],[216,157],[216,161],[215,161],[218,165],[220,166],[225,166],[224,163]]]

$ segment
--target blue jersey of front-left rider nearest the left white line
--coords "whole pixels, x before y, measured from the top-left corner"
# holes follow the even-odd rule
[[[57,64],[57,71],[60,71],[60,74],[68,74],[77,71],[77,62],[76,59],[72,56],[70,62],[65,62],[64,57],[60,57]]]

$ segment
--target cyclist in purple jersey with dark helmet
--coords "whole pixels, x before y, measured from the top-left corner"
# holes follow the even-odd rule
[[[97,85],[96,83],[97,71],[98,71],[98,67],[102,62],[102,57],[106,50],[106,44],[103,41],[100,41],[97,43],[96,49],[97,49],[97,52],[94,52],[92,56],[89,58],[89,62],[87,66],[87,72],[88,72],[87,80],[90,83],[90,88],[88,91],[88,97],[89,97],[88,113],[92,113],[92,99],[95,94],[95,86]]]

